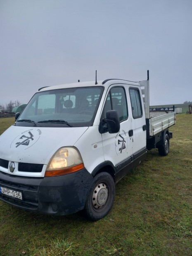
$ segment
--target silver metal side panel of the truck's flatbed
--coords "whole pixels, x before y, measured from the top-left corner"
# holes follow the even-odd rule
[[[149,119],[149,135],[154,136],[157,133],[169,128],[175,124],[175,112],[164,114],[162,116],[157,116]]]

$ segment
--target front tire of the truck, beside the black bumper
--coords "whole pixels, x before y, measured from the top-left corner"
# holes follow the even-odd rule
[[[92,221],[100,220],[109,213],[114,203],[115,183],[109,173],[97,174],[85,203],[85,216]]]

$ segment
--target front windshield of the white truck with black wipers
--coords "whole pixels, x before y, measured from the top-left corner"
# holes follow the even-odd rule
[[[66,88],[37,92],[17,119],[16,126],[92,126],[103,87]]]

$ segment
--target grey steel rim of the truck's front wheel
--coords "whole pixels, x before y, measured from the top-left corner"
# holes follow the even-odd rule
[[[108,189],[105,183],[99,183],[92,193],[92,205],[95,209],[102,208],[108,198]]]

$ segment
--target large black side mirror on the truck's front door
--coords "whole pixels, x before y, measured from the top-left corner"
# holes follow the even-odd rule
[[[120,130],[119,116],[116,110],[109,110],[106,112],[106,118],[100,122],[100,133],[118,133]]]

